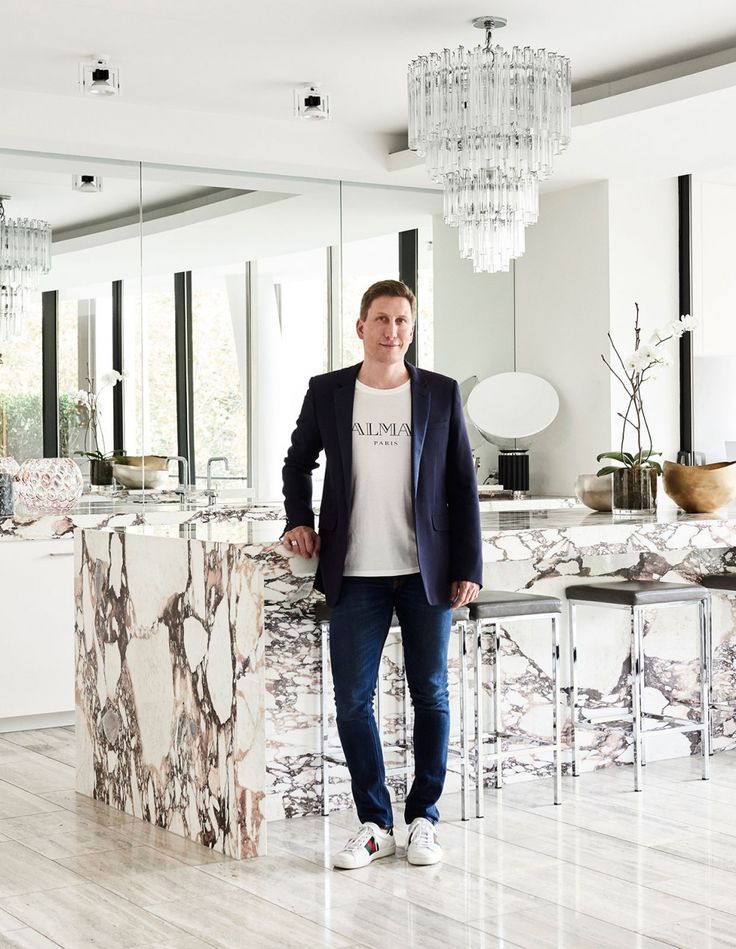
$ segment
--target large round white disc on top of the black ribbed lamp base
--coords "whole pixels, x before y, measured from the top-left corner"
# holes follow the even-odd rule
[[[468,415],[488,441],[500,448],[528,447],[533,435],[556,418],[560,400],[554,387],[529,372],[489,376],[468,397]],[[526,442],[526,444],[524,444]]]

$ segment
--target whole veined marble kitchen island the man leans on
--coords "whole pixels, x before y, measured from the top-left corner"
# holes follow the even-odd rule
[[[580,510],[500,512],[483,514],[482,528],[489,588],[562,595],[586,579],[697,582],[736,568],[730,513],[615,521]],[[268,820],[321,807],[315,562],[287,552],[281,529],[246,515],[239,523],[75,532],[77,789],[234,857],[265,852]],[[564,623],[562,634],[564,669]],[[734,639],[722,599],[714,604],[714,635],[717,684],[726,688]],[[689,714],[696,643],[687,608],[651,618],[648,708]],[[550,732],[550,655],[546,626],[514,624],[504,636],[505,724],[532,739]],[[620,614],[603,620],[601,611],[581,610],[578,668],[587,701],[627,701],[628,629]],[[381,687],[388,734],[400,734],[395,641]],[[735,732],[731,717],[719,717],[715,749],[734,747]],[[649,744],[649,757],[691,754],[697,741],[663,736]],[[627,763],[629,734],[587,732],[580,751],[585,770]],[[508,760],[510,780],[549,773],[544,752]],[[333,804],[347,806],[347,775],[333,774]],[[539,794],[551,799],[547,782]]]

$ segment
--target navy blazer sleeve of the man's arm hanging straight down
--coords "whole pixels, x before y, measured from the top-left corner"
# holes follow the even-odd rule
[[[446,471],[450,515],[450,579],[471,580],[482,586],[483,547],[478,481],[457,382],[453,382]]]

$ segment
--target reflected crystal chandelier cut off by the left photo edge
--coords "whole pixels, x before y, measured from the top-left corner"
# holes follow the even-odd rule
[[[0,343],[23,329],[28,296],[51,270],[51,227],[46,221],[6,220],[0,195]]]

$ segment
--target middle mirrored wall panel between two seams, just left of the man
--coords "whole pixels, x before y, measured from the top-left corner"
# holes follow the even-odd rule
[[[309,378],[333,363],[340,186],[151,165],[142,182],[136,435],[197,489],[280,500]]]

